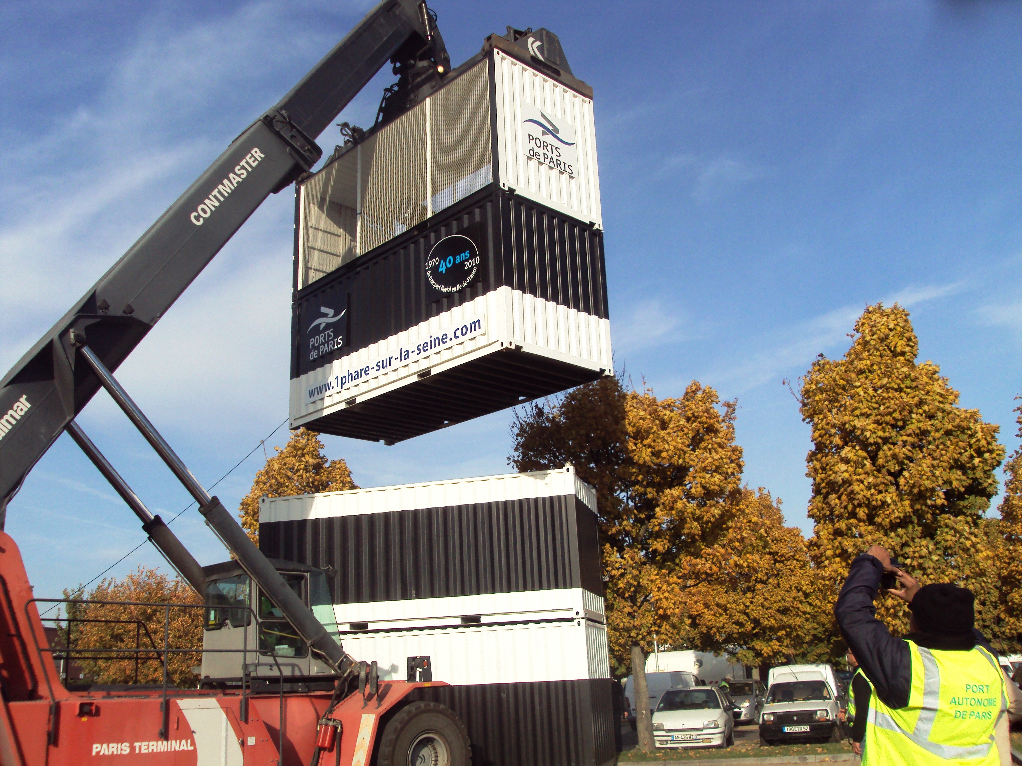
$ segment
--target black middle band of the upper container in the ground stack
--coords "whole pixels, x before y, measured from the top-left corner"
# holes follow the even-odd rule
[[[327,570],[334,604],[582,587],[603,595],[575,495],[260,524],[268,557]]]

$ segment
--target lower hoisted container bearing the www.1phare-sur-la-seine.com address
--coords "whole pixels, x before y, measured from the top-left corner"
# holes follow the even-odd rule
[[[470,225],[481,227],[481,281],[430,300],[426,253]],[[602,232],[517,195],[477,192],[421,234],[404,235],[390,249],[379,248],[298,292],[291,427],[397,441],[594,380],[612,367],[605,284]],[[323,306],[336,315],[344,310],[347,323],[344,345],[325,354],[310,350]],[[380,374],[344,377],[473,317],[481,317],[485,329],[468,341]],[[480,358],[517,346],[526,352],[518,358]],[[455,370],[473,361],[471,369]],[[414,395],[398,392],[427,371],[458,377],[416,385],[425,397],[421,406]],[[368,401],[383,394],[388,398]],[[351,403],[357,409],[349,414]]]

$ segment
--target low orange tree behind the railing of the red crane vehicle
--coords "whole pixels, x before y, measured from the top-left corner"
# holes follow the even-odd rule
[[[92,590],[64,590],[64,599],[135,603],[64,605],[60,643],[69,649],[87,680],[162,683],[166,641],[171,650],[186,650],[168,653],[170,683],[194,687],[197,678],[191,669],[201,662],[202,608],[180,605],[201,605],[202,600],[187,582],[140,565],[124,579],[103,579]],[[59,659],[59,652],[54,655]]]

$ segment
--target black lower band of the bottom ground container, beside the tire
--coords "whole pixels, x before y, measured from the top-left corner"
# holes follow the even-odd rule
[[[611,678],[431,686],[409,695],[458,714],[472,766],[604,766],[621,750]]]

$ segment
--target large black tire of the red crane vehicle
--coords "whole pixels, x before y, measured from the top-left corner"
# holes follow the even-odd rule
[[[402,708],[380,738],[379,766],[468,766],[470,760],[465,724],[437,703]]]

